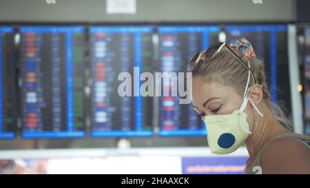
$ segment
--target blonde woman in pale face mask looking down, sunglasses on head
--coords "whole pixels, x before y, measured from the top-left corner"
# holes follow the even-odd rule
[[[292,133],[271,102],[264,64],[249,41],[210,45],[188,67],[194,109],[205,121],[212,153],[229,154],[244,143],[245,174],[310,174],[310,137]]]

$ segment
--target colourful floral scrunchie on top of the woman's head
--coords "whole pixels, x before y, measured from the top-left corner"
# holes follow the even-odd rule
[[[231,50],[244,54],[248,59],[256,59],[256,54],[254,53],[251,43],[247,39],[238,39],[229,44]]]

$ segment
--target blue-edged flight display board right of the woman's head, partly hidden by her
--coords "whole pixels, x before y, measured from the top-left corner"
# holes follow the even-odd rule
[[[241,38],[251,42],[258,59],[265,61],[272,101],[282,101],[290,112],[287,25],[227,25],[225,31],[227,43]]]

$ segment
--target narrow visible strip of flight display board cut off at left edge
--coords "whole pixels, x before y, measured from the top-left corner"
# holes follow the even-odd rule
[[[16,63],[14,28],[0,26],[0,139],[16,136]]]

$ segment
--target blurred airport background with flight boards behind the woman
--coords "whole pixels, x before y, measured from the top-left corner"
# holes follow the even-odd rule
[[[241,174],[180,97],[118,95],[118,74],[186,72],[247,38],[272,100],[310,135],[307,0],[0,0],[0,174]],[[165,90],[172,86],[160,81]],[[143,90],[147,93],[148,90]],[[143,93],[142,92],[142,93]]]

